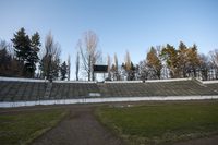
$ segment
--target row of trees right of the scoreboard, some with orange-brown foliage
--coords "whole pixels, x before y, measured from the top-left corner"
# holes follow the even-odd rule
[[[109,60],[109,59],[108,59]],[[108,63],[110,67],[110,62]],[[209,55],[199,55],[197,46],[187,47],[180,41],[179,47],[172,45],[150,47],[146,59],[133,64],[126,51],[121,67],[114,55],[114,63],[109,69],[109,80],[162,80],[198,77],[218,80],[218,49]]]

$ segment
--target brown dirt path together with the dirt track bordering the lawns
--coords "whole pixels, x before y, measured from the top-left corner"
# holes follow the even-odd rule
[[[172,101],[170,101],[172,102]],[[209,101],[208,101],[209,102]],[[107,131],[94,117],[93,111],[101,105],[129,105],[130,102],[35,106],[0,109],[1,113],[22,113],[50,109],[70,109],[70,114],[55,129],[50,130],[33,145],[123,145],[124,143]],[[150,105],[153,101],[131,102],[132,105]],[[157,101],[155,102],[157,104]],[[167,104],[167,102],[166,102]],[[175,143],[174,145],[218,145],[218,135]]]

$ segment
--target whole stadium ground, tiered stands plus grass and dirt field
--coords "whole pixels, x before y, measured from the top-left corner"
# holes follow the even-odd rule
[[[10,130],[17,132],[22,144],[217,143],[217,81],[171,78],[51,83],[0,77],[0,123],[7,130],[15,126]],[[52,121],[56,123],[50,124]],[[44,124],[41,129],[37,122]],[[118,123],[116,128],[114,123]],[[123,131],[117,131],[117,128]],[[1,130],[8,132],[5,129]],[[33,133],[25,134],[29,129]],[[36,134],[39,130],[40,133]],[[134,132],[137,132],[136,136],[132,135]],[[17,144],[13,133],[0,135],[0,141]]]

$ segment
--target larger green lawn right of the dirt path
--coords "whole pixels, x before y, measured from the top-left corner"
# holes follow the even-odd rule
[[[172,144],[218,134],[218,101],[98,108],[100,122],[126,143]]]

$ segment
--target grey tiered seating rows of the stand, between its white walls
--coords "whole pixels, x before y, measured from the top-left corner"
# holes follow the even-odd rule
[[[218,95],[218,83],[203,85],[194,80],[145,83],[78,83],[53,82],[48,97],[49,82],[0,81],[0,101],[53,100],[92,97],[152,97]],[[90,94],[94,94],[92,96]],[[95,96],[95,94],[100,94]]]

